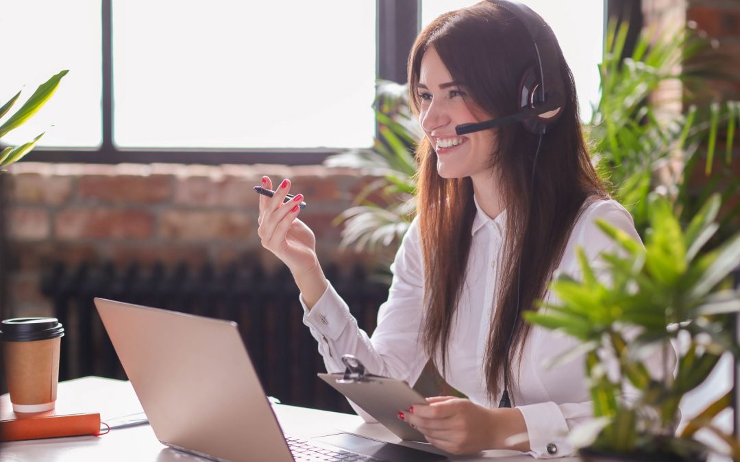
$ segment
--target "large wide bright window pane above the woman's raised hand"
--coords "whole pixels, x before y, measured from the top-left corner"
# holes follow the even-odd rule
[[[122,147],[368,147],[372,1],[115,1]]]

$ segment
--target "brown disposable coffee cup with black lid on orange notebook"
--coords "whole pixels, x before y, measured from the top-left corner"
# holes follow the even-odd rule
[[[64,328],[56,318],[16,318],[0,323],[5,376],[14,412],[54,409],[62,336]]]

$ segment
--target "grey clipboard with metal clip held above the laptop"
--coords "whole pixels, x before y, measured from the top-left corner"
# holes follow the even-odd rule
[[[352,355],[342,356],[342,362],[347,367],[344,373],[318,376],[398,438],[427,443],[422,432],[398,418],[399,411],[414,404],[428,404],[422,395],[403,380],[366,373],[363,364]]]

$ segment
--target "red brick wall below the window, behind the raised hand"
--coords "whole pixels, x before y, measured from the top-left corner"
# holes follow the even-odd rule
[[[144,265],[164,262],[224,264],[257,258],[280,262],[257,236],[258,196],[252,186],[267,174],[290,177],[309,206],[300,213],[316,234],[323,262],[367,262],[340,251],[332,220],[362,188],[357,171],[322,166],[117,166],[19,163],[5,175],[10,203],[8,306],[10,316],[47,316],[44,270],[57,260]]]

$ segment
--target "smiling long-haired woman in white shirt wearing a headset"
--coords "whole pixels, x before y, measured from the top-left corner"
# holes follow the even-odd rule
[[[400,412],[431,444],[456,454],[517,449],[560,457],[571,452],[568,430],[591,415],[583,361],[543,368],[575,341],[521,322],[521,312],[536,309],[537,299],[553,300],[555,271],[578,276],[577,247],[591,260],[613,249],[594,220],[639,238],[591,165],[573,78],[554,36],[549,59],[559,75],[546,79],[562,82],[562,98],[539,118],[545,134],[525,120],[457,135],[462,124],[520,112],[522,76],[542,67],[531,24],[517,8],[482,1],[445,13],[411,50],[410,101],[425,134],[417,148],[417,217],[391,266],[371,339],[323,275],[312,231],[297,220],[303,196],[282,203],[289,180],[272,199],[260,197],[258,234],[292,271],[327,370],[343,371],[340,357],[349,353],[371,373],[413,384],[432,359],[468,399],[429,398]],[[263,186],[272,188],[269,178]],[[503,390],[515,407],[498,406]]]

